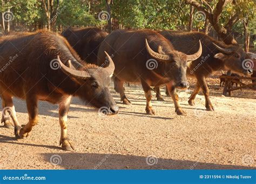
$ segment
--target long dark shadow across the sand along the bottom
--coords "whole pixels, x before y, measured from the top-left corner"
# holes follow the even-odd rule
[[[44,153],[50,162],[54,153]],[[255,167],[219,165],[191,160],[172,160],[121,154],[57,153],[59,166],[65,169],[255,169]],[[52,158],[53,159],[53,158]]]

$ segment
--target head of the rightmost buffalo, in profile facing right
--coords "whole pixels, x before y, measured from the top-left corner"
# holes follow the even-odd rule
[[[220,51],[214,55],[214,58],[222,60],[227,69],[232,70],[234,73],[252,74],[252,69],[246,66],[246,53],[240,46],[231,45],[224,48],[214,43],[213,45]]]

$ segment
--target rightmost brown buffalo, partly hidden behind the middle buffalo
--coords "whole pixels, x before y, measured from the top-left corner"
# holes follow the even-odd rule
[[[188,100],[188,104],[192,106],[194,105],[194,98],[201,88],[205,96],[206,110],[214,111],[209,98],[210,91],[206,78],[215,71],[228,69],[242,75],[252,73],[251,69],[242,66],[246,53],[239,45],[226,45],[200,32],[160,31],[159,33],[170,40],[174,49],[186,54],[195,52],[194,45],[198,43],[199,39],[201,40],[203,53],[200,58],[188,63],[187,69],[187,76],[197,78],[196,88]],[[160,98],[159,88],[156,91],[158,98]]]

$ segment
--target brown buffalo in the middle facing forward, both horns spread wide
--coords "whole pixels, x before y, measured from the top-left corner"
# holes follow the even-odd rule
[[[196,52],[187,55],[173,49],[169,40],[156,31],[116,30],[113,31],[99,47],[98,65],[104,62],[103,50],[113,56],[116,66],[114,76],[121,101],[129,105],[123,83],[141,83],[145,92],[146,113],[153,115],[151,105],[151,87],[166,84],[174,101],[177,114],[184,114],[180,108],[173,88],[187,88],[187,60],[195,60],[201,55],[201,43],[194,45]]]

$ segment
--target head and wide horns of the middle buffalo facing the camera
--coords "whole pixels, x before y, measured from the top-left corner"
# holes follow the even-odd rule
[[[159,62],[165,63],[165,77],[170,78],[177,88],[187,88],[189,84],[186,78],[187,62],[198,59],[202,53],[202,46],[199,40],[199,49],[192,55],[173,50],[171,53],[158,53],[151,49],[146,39],[146,49],[151,57]]]

